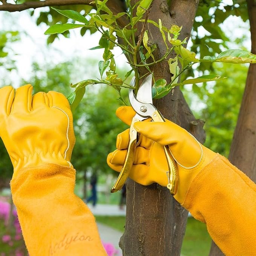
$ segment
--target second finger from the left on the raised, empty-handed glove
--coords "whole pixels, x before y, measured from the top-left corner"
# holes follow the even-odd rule
[[[29,112],[32,105],[33,86],[27,84],[16,89],[12,112]]]

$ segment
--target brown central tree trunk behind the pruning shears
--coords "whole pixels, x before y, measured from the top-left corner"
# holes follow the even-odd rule
[[[155,0],[149,19],[170,28],[172,24],[183,26],[180,39],[189,37],[199,0],[173,0],[170,9],[166,1]],[[149,38],[158,48],[154,51],[156,59],[164,55],[166,47],[159,29],[147,25]],[[141,28],[138,28],[141,31]],[[172,56],[174,53],[171,54]],[[139,70],[140,74],[145,72]],[[156,79],[170,81],[171,74],[166,61],[153,67]],[[181,125],[204,141],[203,122],[195,120],[184,97],[175,88],[166,97],[156,100],[155,106],[164,117]],[[165,256],[179,255],[187,222],[187,211],[170,195],[169,190],[159,185],[139,185],[129,179],[127,187],[126,228],[120,239],[124,256]]]

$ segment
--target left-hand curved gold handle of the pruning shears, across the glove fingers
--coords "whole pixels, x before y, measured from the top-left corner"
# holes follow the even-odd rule
[[[128,144],[126,157],[124,160],[124,166],[117,178],[117,181],[115,182],[112,189],[110,190],[111,193],[115,193],[123,187],[124,182],[128,178],[130,170],[132,169],[133,159],[134,159],[136,144],[137,144],[137,131],[134,129],[133,124],[138,121],[139,120],[137,118],[133,117],[132,123],[130,126],[129,144]]]

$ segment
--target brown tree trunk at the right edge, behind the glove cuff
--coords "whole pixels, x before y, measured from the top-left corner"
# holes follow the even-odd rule
[[[247,0],[251,52],[256,54],[256,0]],[[256,64],[250,64],[229,160],[256,182]],[[212,242],[210,256],[224,255]]]

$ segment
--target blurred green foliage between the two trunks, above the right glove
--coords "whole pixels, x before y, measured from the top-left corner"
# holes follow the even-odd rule
[[[193,84],[182,89],[197,118],[205,121],[204,145],[228,157],[238,119],[248,65],[214,63],[213,71],[227,77],[216,84]],[[198,107],[199,106],[199,107]]]

